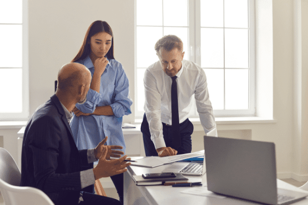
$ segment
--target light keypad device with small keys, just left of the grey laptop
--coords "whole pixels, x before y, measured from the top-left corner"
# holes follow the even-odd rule
[[[183,175],[201,176],[205,173],[204,155],[200,162],[175,162],[168,165],[162,172],[181,173]]]

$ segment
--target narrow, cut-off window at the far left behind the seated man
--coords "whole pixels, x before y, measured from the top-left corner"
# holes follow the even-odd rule
[[[29,115],[26,0],[0,1],[0,119]]]

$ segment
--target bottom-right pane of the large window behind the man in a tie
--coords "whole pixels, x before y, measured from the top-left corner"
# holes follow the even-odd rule
[[[225,70],[226,109],[248,109],[248,69]]]

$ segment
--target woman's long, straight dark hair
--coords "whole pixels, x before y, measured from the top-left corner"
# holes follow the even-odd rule
[[[77,55],[74,57],[74,59],[71,62],[75,62],[79,59],[85,59],[91,52],[91,46],[90,46],[90,41],[91,41],[91,37],[93,35],[95,35],[96,33],[99,32],[107,32],[108,34],[110,34],[112,36],[112,40],[111,40],[111,47],[108,50],[106,57],[108,59],[114,59],[113,56],[113,32],[112,29],[110,27],[110,25],[106,22],[106,21],[102,21],[102,20],[97,20],[94,21],[88,28],[87,32],[86,32],[86,36],[84,38],[84,41],[82,43],[81,48],[79,49],[79,52],[77,53]]]

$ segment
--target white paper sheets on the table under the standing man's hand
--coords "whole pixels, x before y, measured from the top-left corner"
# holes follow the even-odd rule
[[[179,155],[173,155],[173,156],[146,156],[141,159],[137,159],[136,162],[131,162],[131,165],[135,166],[145,166],[145,167],[156,167],[167,163],[172,163],[175,161],[179,161],[186,158],[191,157],[197,157],[197,156],[203,156],[204,150],[196,151],[192,153],[186,153],[186,154],[179,154]]]

